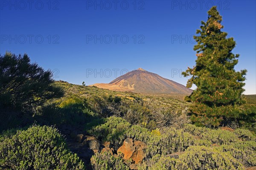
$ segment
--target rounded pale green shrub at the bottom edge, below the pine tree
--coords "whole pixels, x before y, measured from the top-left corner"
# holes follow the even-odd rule
[[[243,165],[228,153],[205,146],[189,147],[179,156],[192,170],[243,170]]]

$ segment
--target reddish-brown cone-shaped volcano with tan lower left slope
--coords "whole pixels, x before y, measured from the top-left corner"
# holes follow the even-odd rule
[[[142,94],[185,94],[189,95],[192,90],[186,88],[175,81],[163,78],[158,74],[151,73],[138,68],[130,71],[120,77],[117,77],[110,83],[96,83],[94,86],[113,91],[132,91]]]

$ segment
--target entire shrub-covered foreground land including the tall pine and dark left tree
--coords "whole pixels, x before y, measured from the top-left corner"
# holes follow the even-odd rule
[[[212,7],[202,22],[205,57],[186,72],[198,85],[186,102],[54,81],[27,54],[0,54],[0,169],[256,168],[256,103],[242,95],[245,72],[233,70],[235,43],[220,21]]]

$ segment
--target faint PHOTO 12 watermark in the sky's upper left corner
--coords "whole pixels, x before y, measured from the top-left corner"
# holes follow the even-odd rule
[[[58,0],[0,0],[1,10],[59,10]]]

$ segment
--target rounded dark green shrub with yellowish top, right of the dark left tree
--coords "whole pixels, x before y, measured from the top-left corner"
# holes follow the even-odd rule
[[[87,106],[87,100],[74,94],[47,102],[34,116],[37,122],[42,124],[82,125],[97,118],[97,115]]]

